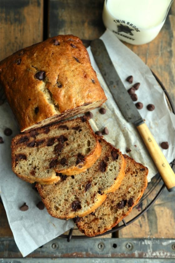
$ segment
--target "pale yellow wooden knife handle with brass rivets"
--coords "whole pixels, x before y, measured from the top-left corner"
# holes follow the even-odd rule
[[[169,192],[175,191],[175,174],[159,148],[157,142],[153,138],[146,123],[137,126],[143,142],[145,143],[153,162],[155,163],[167,189]]]

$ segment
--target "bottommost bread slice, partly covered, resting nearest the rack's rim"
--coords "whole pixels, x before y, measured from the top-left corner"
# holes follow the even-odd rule
[[[127,216],[142,197],[147,187],[148,168],[124,155],[127,165],[125,177],[114,193],[109,193],[103,204],[83,218],[75,218],[79,230],[87,236],[105,233]]]

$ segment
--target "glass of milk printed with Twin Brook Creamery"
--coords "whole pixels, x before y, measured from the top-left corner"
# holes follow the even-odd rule
[[[162,28],[173,0],[105,0],[103,23],[130,44],[152,41]]]

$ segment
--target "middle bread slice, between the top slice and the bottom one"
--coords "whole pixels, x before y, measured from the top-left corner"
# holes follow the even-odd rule
[[[47,211],[60,219],[85,216],[94,211],[114,192],[124,177],[125,159],[111,144],[100,139],[102,153],[87,171],[75,175],[60,175],[53,185],[37,183],[37,190]]]

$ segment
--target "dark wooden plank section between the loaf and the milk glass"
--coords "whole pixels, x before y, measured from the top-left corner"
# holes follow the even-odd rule
[[[95,39],[105,31],[102,21],[104,0],[50,0],[49,36],[73,34]]]

